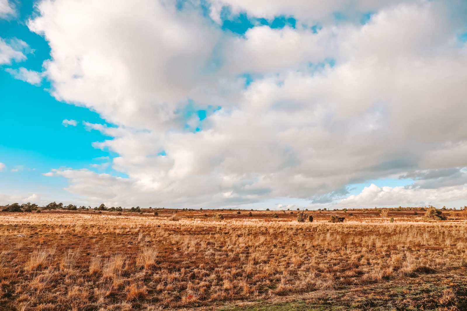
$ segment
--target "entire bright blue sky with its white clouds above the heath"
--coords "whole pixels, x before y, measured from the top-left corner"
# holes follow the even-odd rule
[[[467,203],[465,7],[382,2],[7,1],[0,204]]]

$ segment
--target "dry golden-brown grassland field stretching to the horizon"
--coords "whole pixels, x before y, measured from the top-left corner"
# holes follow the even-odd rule
[[[0,212],[0,309],[467,310],[463,212]]]

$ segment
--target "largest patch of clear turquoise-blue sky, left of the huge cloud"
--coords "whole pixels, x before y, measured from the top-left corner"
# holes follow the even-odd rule
[[[26,60],[0,66],[0,162],[7,166],[0,173],[2,191],[21,189],[23,192],[40,192],[42,188],[61,191],[57,189],[66,186],[64,178],[42,175],[59,167],[88,168],[125,177],[124,173],[113,171],[110,165],[91,167],[116,156],[113,152],[92,146],[92,142],[112,137],[99,131],[86,131],[82,124],[82,121],[106,124],[99,114],[84,107],[58,102],[50,95],[51,86],[45,79],[40,86],[34,86],[4,71],[24,67],[40,72],[43,61],[50,59],[48,42],[30,32],[26,25],[33,14],[33,4],[32,0],[16,2],[18,18],[0,20],[0,37],[20,39],[31,48],[27,51],[29,53],[25,53]],[[64,119],[76,120],[77,125],[65,127],[62,124]],[[40,189],[37,189],[37,185],[41,185]]]

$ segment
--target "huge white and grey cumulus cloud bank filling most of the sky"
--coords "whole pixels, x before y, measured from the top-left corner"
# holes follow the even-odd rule
[[[113,137],[93,145],[116,152],[112,168],[128,177],[71,168],[51,175],[67,178],[71,193],[122,206],[467,200],[456,177],[463,173],[344,198],[351,183],[467,166],[467,48],[457,40],[463,17],[453,15],[462,2],[346,2],[212,1],[212,12],[297,18],[297,28],[233,36],[196,7],[42,1],[29,27],[50,43],[44,68],[53,95],[115,124],[84,123]],[[339,10],[375,14],[364,25],[329,22]],[[301,26],[320,20],[317,32]],[[244,73],[254,76],[248,85]],[[218,106],[191,130],[186,107]]]

